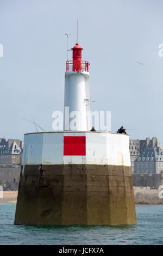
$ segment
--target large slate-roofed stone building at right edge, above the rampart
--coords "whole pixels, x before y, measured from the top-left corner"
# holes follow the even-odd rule
[[[134,160],[134,174],[160,174],[163,170],[163,148],[158,138],[146,138],[139,143],[139,156]]]

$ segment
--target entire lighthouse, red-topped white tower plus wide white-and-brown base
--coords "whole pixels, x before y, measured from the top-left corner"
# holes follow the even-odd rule
[[[66,61],[64,131],[24,135],[15,224],[136,223],[129,136],[90,132],[82,50],[77,42]]]

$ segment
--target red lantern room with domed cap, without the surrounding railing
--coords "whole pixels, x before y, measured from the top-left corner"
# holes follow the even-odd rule
[[[80,47],[80,45],[78,43],[76,43],[76,45],[71,48],[72,50],[72,59],[73,59],[73,71],[74,69],[76,71],[80,71],[82,70],[82,50],[83,48]]]

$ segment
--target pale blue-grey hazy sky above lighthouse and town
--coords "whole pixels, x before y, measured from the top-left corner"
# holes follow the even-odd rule
[[[162,10],[162,0],[0,0],[0,138],[35,132],[24,119],[52,131],[64,110],[65,33],[71,48],[78,18],[91,110],[111,111],[112,132],[123,125],[130,139],[163,144]]]

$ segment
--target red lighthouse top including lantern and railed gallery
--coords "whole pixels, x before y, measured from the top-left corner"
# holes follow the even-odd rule
[[[72,60],[67,60],[66,62],[66,72],[69,71],[87,71],[89,72],[89,62],[82,60],[82,50],[78,42],[71,48],[72,50]]]

